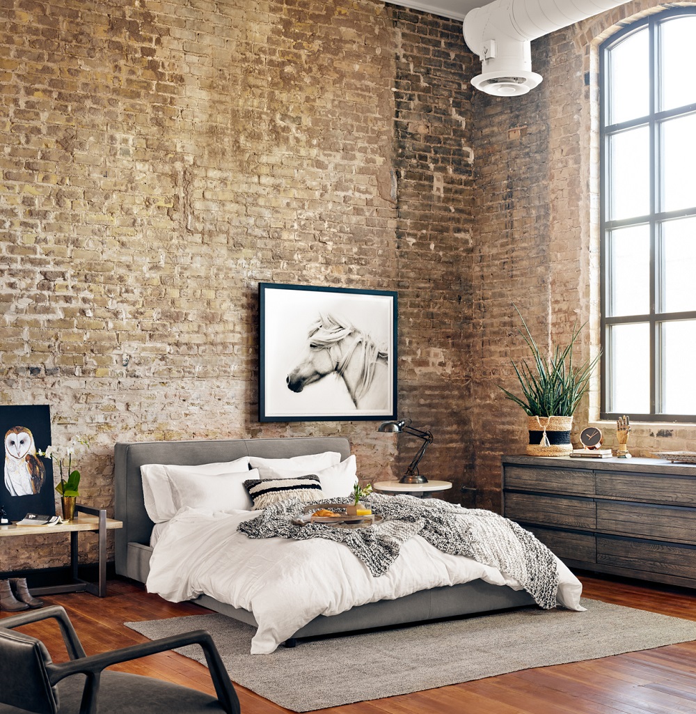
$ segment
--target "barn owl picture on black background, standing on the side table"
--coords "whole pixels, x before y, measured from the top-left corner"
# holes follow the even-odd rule
[[[34,447],[21,458],[16,458],[9,451],[8,438],[22,428],[34,440]],[[45,451],[51,445],[51,408],[48,404],[19,406],[0,406],[0,433],[3,437],[3,478],[0,478],[0,506],[3,506],[10,521],[21,521],[27,513],[40,513],[46,516],[56,515],[56,492],[53,488],[53,461],[50,458],[36,456],[36,451]],[[14,446],[10,447],[13,450]],[[43,478],[38,493],[17,493],[24,484],[31,491],[31,481],[19,481],[17,484],[16,467],[22,466],[33,471],[36,476],[44,467]],[[26,465],[26,466],[25,466]],[[38,478],[38,477],[37,477]],[[36,484],[37,481],[34,481]]]

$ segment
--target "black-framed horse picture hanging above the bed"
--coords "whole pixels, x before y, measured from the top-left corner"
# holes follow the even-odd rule
[[[259,283],[260,421],[396,418],[396,292]]]

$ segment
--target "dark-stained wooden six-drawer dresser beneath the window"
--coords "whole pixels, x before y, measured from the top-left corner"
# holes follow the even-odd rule
[[[696,466],[503,456],[503,514],[570,568],[696,588]]]

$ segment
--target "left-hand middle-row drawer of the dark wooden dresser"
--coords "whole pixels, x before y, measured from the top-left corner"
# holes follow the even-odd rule
[[[595,502],[585,498],[506,493],[505,516],[512,521],[539,526],[565,526],[589,531],[597,527]]]

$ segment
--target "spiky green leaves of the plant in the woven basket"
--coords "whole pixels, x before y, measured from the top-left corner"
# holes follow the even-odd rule
[[[520,316],[524,330],[519,333],[531,351],[531,365],[522,360],[512,366],[522,388],[522,396],[516,396],[501,387],[508,399],[519,404],[529,416],[573,416],[580,399],[590,386],[590,376],[600,355],[573,366],[573,347],[585,323],[573,328],[570,343],[561,348],[553,348],[551,356],[543,356],[531,335],[522,313],[513,305]]]

